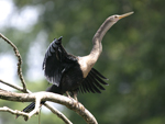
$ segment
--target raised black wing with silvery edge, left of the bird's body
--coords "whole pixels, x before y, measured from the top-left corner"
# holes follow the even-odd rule
[[[62,36],[48,46],[43,61],[44,75],[48,82],[59,86],[63,74],[69,69],[76,57],[66,53],[62,46]]]

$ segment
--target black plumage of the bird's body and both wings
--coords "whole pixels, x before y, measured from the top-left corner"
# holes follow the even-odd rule
[[[105,90],[100,84],[108,84],[96,69],[84,78],[78,57],[68,54],[62,46],[62,36],[48,46],[43,61],[44,75],[48,82],[57,86],[63,94],[69,92],[98,92]],[[88,84],[89,83],[89,84]],[[94,90],[92,90],[94,89]]]

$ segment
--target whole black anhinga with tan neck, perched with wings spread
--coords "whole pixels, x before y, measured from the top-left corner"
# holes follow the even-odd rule
[[[105,90],[101,84],[108,84],[102,80],[107,78],[92,68],[102,52],[102,37],[114,23],[132,13],[109,16],[95,34],[92,49],[87,56],[77,57],[68,54],[62,46],[62,36],[55,38],[48,46],[43,61],[44,75],[47,81],[53,83],[46,91],[66,93],[68,97],[70,92],[77,100],[77,92],[100,93],[100,90]],[[42,101],[43,103],[45,101]],[[32,102],[23,111],[30,112],[34,106],[35,103]]]

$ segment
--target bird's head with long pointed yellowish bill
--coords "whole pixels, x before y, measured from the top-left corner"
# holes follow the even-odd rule
[[[121,14],[121,15],[116,14],[116,15],[109,16],[108,20],[109,20],[109,22],[116,23],[116,22],[118,22],[120,19],[123,19],[123,18],[129,16],[129,15],[131,15],[131,14],[133,14],[133,12],[129,12],[129,13]]]

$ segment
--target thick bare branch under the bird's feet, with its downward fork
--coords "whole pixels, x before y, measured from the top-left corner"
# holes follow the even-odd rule
[[[35,100],[35,104],[36,104],[35,109],[28,114],[26,120],[29,120],[33,114],[37,113],[41,101],[52,101],[52,102],[61,103],[74,110],[88,124],[98,124],[94,115],[87,109],[85,109],[82,104],[78,103],[74,99],[69,99],[61,94],[55,94],[51,92],[15,93],[15,92],[9,92],[0,89],[0,99],[9,100],[9,101],[18,101],[18,102],[32,102]],[[20,113],[16,114],[22,115]]]

